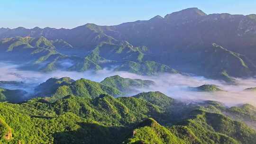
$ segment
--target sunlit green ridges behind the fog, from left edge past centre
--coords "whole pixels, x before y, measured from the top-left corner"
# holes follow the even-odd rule
[[[90,49],[85,52],[62,39],[49,40],[43,36],[38,38],[14,37],[0,40],[0,60],[8,59],[13,63],[22,64],[23,69],[42,72],[97,71],[114,65],[117,71],[137,74],[153,75],[159,72],[176,72],[164,64],[144,61],[147,48],[145,46],[134,47],[127,41],[119,42],[111,39],[99,42]]]

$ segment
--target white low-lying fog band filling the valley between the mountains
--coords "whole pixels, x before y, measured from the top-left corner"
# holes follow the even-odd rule
[[[143,79],[155,81],[156,85],[139,91],[161,91],[166,95],[183,101],[201,101],[216,100],[225,103],[227,106],[234,106],[243,103],[249,103],[256,106],[256,92],[243,91],[246,88],[256,87],[256,79],[237,79],[237,85],[228,85],[223,81],[210,80],[204,77],[168,74],[163,73],[159,76],[141,76],[129,72],[113,72],[112,70],[101,70],[98,72],[64,72],[55,71],[49,73],[21,71],[17,69],[18,65],[10,63],[0,63],[0,81],[23,81],[27,86],[19,89],[33,90],[33,87],[46,81],[51,77],[71,77],[74,80],[81,78],[100,82],[104,78],[119,75],[124,78]],[[215,84],[223,92],[197,92],[189,90],[189,87],[198,87],[203,84]],[[10,88],[14,89],[14,88]],[[136,89],[136,88],[135,88]],[[134,95],[130,94],[130,95]]]

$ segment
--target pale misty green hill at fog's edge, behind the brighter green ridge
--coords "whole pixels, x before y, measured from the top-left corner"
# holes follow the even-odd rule
[[[155,85],[154,81],[122,78],[119,75],[105,78],[101,84],[116,88],[124,93],[136,92],[135,89],[148,88]]]

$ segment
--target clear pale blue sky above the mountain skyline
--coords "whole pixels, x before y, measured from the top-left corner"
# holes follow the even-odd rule
[[[1,0],[0,27],[117,25],[192,7],[207,14],[248,15],[256,13],[256,0]]]

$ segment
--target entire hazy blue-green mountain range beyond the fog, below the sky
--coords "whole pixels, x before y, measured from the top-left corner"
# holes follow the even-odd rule
[[[256,74],[256,15],[197,8],[117,26],[0,28],[0,60],[53,71],[189,72],[232,82]]]

